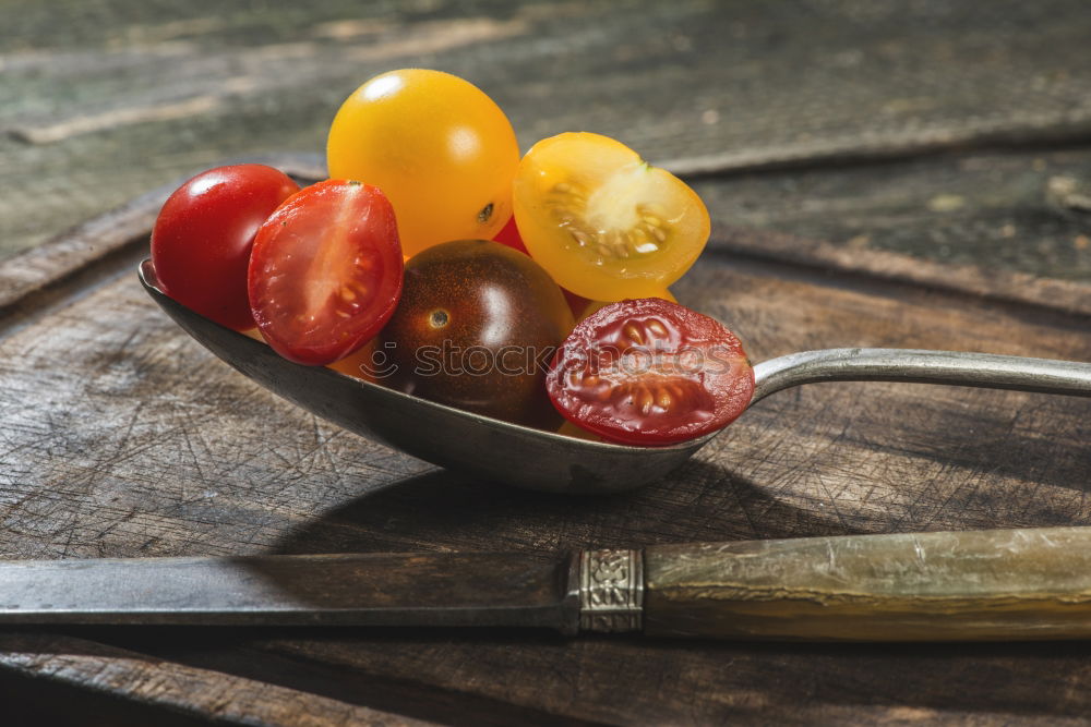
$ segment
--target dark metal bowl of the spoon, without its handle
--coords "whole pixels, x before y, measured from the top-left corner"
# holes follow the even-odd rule
[[[349,432],[458,472],[551,493],[616,493],[661,478],[715,436],[626,447],[481,416],[325,366],[292,363],[169,298],[149,259],[141,264],[140,279],[185,332],[266,389]]]

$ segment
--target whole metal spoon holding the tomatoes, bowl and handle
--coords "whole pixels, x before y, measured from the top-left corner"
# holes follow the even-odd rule
[[[194,313],[157,288],[152,260],[144,289],[190,336],[265,388],[362,437],[469,474],[554,493],[618,493],[671,472],[719,432],[669,447],[576,439],[433,403],[324,366],[301,366],[269,347]],[[754,367],[751,403],[816,381],[919,381],[1091,397],[1091,364],[987,353],[829,349]]]

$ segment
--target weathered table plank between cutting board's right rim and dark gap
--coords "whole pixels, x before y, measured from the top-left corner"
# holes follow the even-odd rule
[[[732,251],[925,284],[957,280],[1086,313],[1089,165],[1084,148],[1028,148],[721,175],[695,189],[730,228],[716,243]],[[770,231],[789,237],[770,240]]]

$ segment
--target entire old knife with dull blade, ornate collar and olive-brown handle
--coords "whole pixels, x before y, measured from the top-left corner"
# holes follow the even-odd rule
[[[0,562],[0,625],[542,627],[805,641],[1091,637],[1091,528],[527,554]]]

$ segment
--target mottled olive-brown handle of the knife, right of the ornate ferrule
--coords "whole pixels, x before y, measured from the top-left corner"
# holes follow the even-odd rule
[[[1091,638],[1091,528],[659,545],[643,556],[652,635]]]

